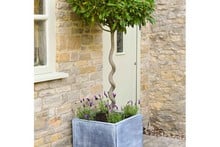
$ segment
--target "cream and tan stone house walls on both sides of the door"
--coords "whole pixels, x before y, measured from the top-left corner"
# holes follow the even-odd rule
[[[156,24],[141,29],[141,112],[145,127],[185,134],[185,1],[156,2]],[[34,84],[35,147],[72,147],[75,103],[103,91],[102,53],[102,30],[56,0],[56,70],[69,77]]]

